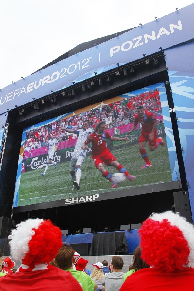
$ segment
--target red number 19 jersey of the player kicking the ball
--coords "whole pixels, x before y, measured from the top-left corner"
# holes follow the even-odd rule
[[[86,140],[85,145],[87,145],[89,142],[92,143],[92,155],[98,155],[107,149],[105,139],[111,138],[111,135],[109,135],[107,131],[104,131],[101,134],[93,132],[90,136],[91,140]]]

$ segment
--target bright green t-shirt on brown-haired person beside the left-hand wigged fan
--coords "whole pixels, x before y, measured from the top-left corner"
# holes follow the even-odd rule
[[[72,276],[79,282],[82,286],[83,291],[94,291],[94,280],[85,272],[77,271],[73,269],[67,269],[72,273]]]

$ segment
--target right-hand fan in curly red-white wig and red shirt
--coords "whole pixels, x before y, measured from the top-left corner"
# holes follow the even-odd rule
[[[194,289],[194,227],[179,213],[153,213],[139,230],[141,258],[151,266],[129,276],[119,291]]]

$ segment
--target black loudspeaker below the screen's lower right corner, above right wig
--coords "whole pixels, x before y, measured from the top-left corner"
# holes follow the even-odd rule
[[[173,192],[173,196],[175,212],[179,212],[188,222],[192,222],[188,191]]]

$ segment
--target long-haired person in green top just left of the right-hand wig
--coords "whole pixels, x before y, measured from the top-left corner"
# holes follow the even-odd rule
[[[140,269],[149,268],[149,267],[150,266],[148,264],[146,264],[141,259],[141,249],[140,249],[140,246],[138,246],[134,251],[132,267],[127,273],[125,273],[125,275],[123,277],[123,282],[125,282],[127,277],[130,276],[131,274],[133,274],[134,272],[136,272],[136,271],[138,271]]]

